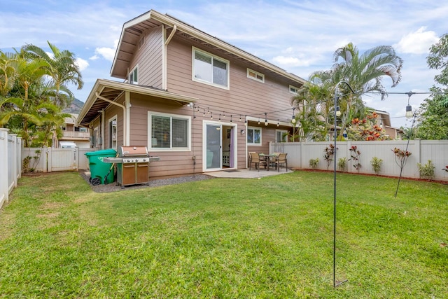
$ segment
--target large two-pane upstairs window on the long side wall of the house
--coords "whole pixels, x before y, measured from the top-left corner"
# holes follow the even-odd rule
[[[229,87],[229,62],[193,48],[193,81]]]

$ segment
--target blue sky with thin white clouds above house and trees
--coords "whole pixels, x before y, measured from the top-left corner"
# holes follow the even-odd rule
[[[367,106],[387,111],[393,127],[410,127],[408,99],[417,109],[428,97],[437,70],[428,68],[429,48],[448,33],[448,3],[440,0],[0,0],[0,49],[13,52],[27,43],[76,55],[85,102],[97,78],[110,76],[123,24],[151,11],[172,15],[232,46],[271,62],[301,78],[332,67],[337,48],[353,43],[360,53],[393,46],[404,60],[402,80],[381,101],[365,95]],[[405,92],[416,92],[408,98]]]

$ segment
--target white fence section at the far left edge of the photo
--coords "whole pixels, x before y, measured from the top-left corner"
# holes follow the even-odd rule
[[[0,128],[0,208],[22,174],[22,139],[16,134],[8,134],[8,129]]]

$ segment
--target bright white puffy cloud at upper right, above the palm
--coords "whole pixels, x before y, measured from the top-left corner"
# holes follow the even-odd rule
[[[406,34],[394,46],[400,53],[427,54],[429,48],[439,41],[437,34],[433,31],[425,31],[426,27],[420,27],[416,32]]]

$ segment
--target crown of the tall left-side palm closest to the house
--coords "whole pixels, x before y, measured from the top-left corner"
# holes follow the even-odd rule
[[[52,51],[52,55],[48,55],[44,50],[34,45],[25,45],[22,50],[27,52],[29,57],[41,58],[48,63],[48,76],[52,79],[55,86],[56,97],[54,97],[54,104],[61,106],[64,109],[73,101],[73,93],[66,88],[67,83],[73,83],[78,86],[78,90],[83,88],[84,82],[81,76],[78,65],[76,64],[76,57],[74,53],[69,50],[59,50],[55,45],[47,41],[48,46]],[[59,97],[59,91],[65,87],[65,92],[69,97]]]

